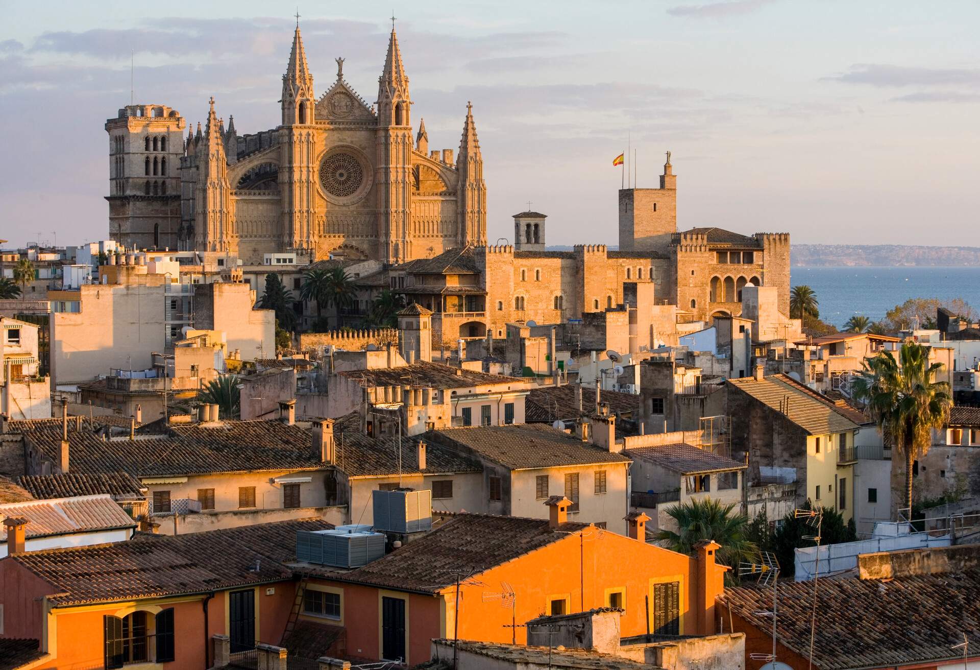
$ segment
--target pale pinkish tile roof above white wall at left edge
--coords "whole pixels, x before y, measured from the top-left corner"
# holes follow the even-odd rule
[[[25,518],[27,538],[136,528],[136,522],[109,495],[84,495],[0,505],[0,519]],[[0,541],[7,541],[6,527]]]

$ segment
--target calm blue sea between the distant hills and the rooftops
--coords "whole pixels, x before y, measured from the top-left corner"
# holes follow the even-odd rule
[[[908,298],[960,298],[980,313],[980,267],[791,268],[790,285],[799,284],[816,293],[820,319],[839,327],[856,314],[878,321]]]

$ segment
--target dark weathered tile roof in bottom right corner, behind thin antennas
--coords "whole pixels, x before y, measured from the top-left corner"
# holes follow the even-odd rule
[[[772,631],[772,590],[726,589],[720,601],[759,628]],[[809,655],[813,583],[780,581],[780,643]],[[820,580],[813,667],[881,668],[962,659],[963,633],[980,646],[980,572],[878,580]]]

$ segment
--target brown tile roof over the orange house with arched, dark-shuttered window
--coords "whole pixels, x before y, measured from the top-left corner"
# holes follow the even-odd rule
[[[327,528],[332,525],[321,519],[302,519],[180,536],[141,534],[10,559],[51,584],[55,605],[115,602],[289,580],[293,572],[283,563],[296,560],[296,532]]]

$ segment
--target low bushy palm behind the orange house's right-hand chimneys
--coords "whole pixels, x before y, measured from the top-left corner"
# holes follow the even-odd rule
[[[735,503],[721,504],[714,498],[692,498],[666,510],[677,523],[677,532],[662,529],[654,536],[665,542],[667,548],[680,553],[693,554],[694,545],[702,540],[713,540],[721,545],[718,561],[737,567],[739,563],[756,562],[759,547],[747,535],[749,518],[735,512]]]

